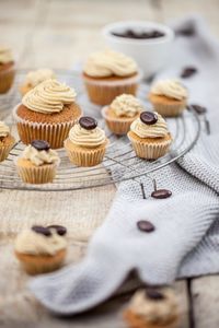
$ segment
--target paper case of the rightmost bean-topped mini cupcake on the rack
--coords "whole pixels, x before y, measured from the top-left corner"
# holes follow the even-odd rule
[[[141,142],[138,140],[130,139],[132,148],[137,156],[146,160],[157,160],[166,154],[172,143],[172,140],[160,141],[158,143]]]

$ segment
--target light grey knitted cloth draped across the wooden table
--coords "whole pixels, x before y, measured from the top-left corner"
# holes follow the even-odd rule
[[[194,24],[196,35],[176,39],[172,66],[162,77],[178,75],[184,66],[198,68],[198,74],[185,84],[192,102],[208,107],[211,133],[204,131],[197,147],[178,164],[155,174],[158,187],[172,190],[171,198],[152,199],[148,177],[142,180],[147,199],[136,181],[122,183],[84,260],[31,282],[36,297],[53,312],[77,314],[97,305],[132,269],[151,284],[219,271],[219,46],[199,19],[182,21],[180,26],[188,23]],[[149,220],[155,231],[138,231],[139,220]]]

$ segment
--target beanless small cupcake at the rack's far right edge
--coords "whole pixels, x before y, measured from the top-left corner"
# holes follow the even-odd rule
[[[187,104],[187,90],[177,80],[163,80],[154,83],[149,101],[154,109],[163,116],[178,116]]]

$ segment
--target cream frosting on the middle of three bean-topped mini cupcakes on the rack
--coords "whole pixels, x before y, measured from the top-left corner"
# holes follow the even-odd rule
[[[99,127],[92,130],[87,130],[79,124],[71,128],[69,139],[72,143],[85,148],[96,148],[106,142],[104,130]]]

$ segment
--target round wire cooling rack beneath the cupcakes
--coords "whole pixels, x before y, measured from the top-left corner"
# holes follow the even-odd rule
[[[13,126],[11,110],[21,102],[19,85],[24,80],[28,70],[19,71],[9,94],[0,96],[0,119]],[[153,172],[177,161],[187,153],[197,142],[200,133],[200,119],[193,110],[185,110],[181,117],[168,119],[168,124],[173,136],[171,151],[165,156],[157,161],[146,161],[138,159],[130,145],[127,137],[116,137],[105,126],[101,118],[101,108],[89,102],[87,98],[80,73],[77,71],[56,71],[60,81],[76,89],[78,103],[84,114],[99,119],[99,125],[105,129],[111,143],[102,164],[94,167],[77,167],[72,165],[65,152],[58,150],[61,163],[57,171],[57,176],[53,184],[30,185],[22,183],[16,173],[14,160],[21,154],[24,144],[18,141],[11,150],[8,159],[0,163],[0,188],[39,191],[77,190],[92,187],[100,187],[124,180],[135,179],[140,183],[141,177],[150,176]],[[150,108],[147,103],[148,85],[141,84],[139,87],[139,98],[146,108]]]

